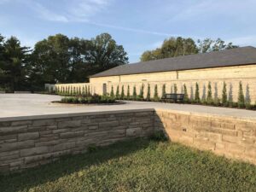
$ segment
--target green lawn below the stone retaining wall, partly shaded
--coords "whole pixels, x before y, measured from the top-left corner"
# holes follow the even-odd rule
[[[256,166],[136,139],[0,177],[0,191],[256,191]]]

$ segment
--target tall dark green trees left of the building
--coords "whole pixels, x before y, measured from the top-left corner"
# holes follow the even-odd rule
[[[108,33],[96,38],[49,36],[34,48],[0,34],[0,90],[44,90],[44,84],[83,83],[90,75],[128,63],[122,45]]]

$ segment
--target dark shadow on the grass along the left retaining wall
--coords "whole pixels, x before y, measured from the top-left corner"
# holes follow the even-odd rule
[[[79,172],[90,166],[100,165],[108,160],[119,158],[137,150],[147,148],[150,140],[137,138],[118,142],[108,147],[97,148],[96,151],[86,154],[73,154],[62,156],[60,160],[44,166],[30,168],[20,173],[0,176],[0,191],[23,191],[30,188],[55,181],[73,172]]]

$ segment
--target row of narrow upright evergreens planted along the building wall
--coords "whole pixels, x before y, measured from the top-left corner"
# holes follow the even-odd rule
[[[151,97],[150,93],[150,84],[148,84],[147,96],[144,98],[144,84],[140,89],[139,95],[137,95],[136,86],[133,87],[132,95],[130,94],[130,85],[127,87],[127,94],[125,95],[124,85],[121,88],[121,92],[119,93],[119,85],[117,86],[116,92],[114,94],[113,86],[111,87],[111,92],[109,96],[115,97],[117,99],[122,100],[132,100],[132,101],[147,101],[147,102],[160,102],[160,97],[158,94],[158,85],[154,85],[154,96]],[[248,91],[247,86],[247,91]],[[177,93],[177,84],[173,86],[173,93]],[[162,86],[162,96],[166,94],[166,84]],[[195,84],[195,98],[190,99],[188,95],[188,90],[186,84],[183,84],[183,94],[184,94],[184,103],[195,103],[195,104],[202,104],[202,105],[210,105],[210,106],[218,106],[218,107],[229,107],[229,108],[247,108],[247,109],[254,109],[256,110],[256,103],[251,104],[250,98],[245,98],[243,94],[243,88],[241,82],[239,83],[239,90],[238,90],[238,99],[237,102],[233,102],[231,97],[228,97],[227,94],[227,84],[224,82],[223,90],[222,90],[222,98],[213,98],[212,97],[212,85],[211,82],[208,83],[207,86],[207,96],[204,99],[201,99],[200,91],[199,91],[199,84]]]

